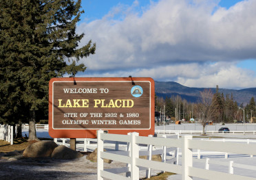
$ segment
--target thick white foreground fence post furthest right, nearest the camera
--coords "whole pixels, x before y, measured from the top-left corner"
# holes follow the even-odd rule
[[[182,137],[182,180],[192,180],[189,167],[193,166],[193,152],[189,149],[189,140],[192,140],[192,136]]]

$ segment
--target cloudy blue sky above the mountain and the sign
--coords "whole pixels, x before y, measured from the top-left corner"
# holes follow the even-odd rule
[[[78,77],[152,77],[189,87],[256,87],[256,0],[82,1]]]

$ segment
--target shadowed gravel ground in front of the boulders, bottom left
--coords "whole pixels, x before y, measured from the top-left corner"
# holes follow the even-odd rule
[[[0,153],[0,179],[97,179],[97,163],[86,159],[64,160],[51,158],[25,158],[15,153]],[[104,168],[120,168],[126,164],[111,162]],[[157,175],[154,171],[151,175]],[[140,178],[145,177],[145,170]]]

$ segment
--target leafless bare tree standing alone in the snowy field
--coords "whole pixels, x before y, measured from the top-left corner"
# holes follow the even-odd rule
[[[195,107],[195,112],[198,117],[201,118],[203,134],[205,134],[206,123],[213,120],[216,110],[216,102],[215,99],[213,99],[213,93],[211,90],[205,89],[200,92],[200,100],[198,105]]]

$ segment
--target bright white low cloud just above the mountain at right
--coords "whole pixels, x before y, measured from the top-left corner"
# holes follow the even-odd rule
[[[201,69],[201,70],[200,70]],[[184,86],[198,88],[246,88],[255,87],[256,75],[253,70],[238,68],[235,63],[217,62],[198,66],[200,75],[196,78],[179,77],[178,82]]]

